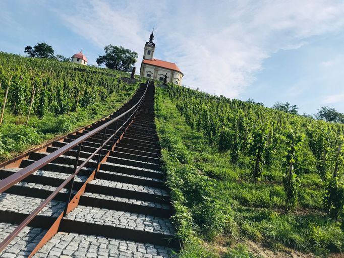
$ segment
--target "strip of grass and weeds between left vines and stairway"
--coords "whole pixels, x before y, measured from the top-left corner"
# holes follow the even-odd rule
[[[6,120],[0,125],[0,161],[113,113],[129,101],[137,89],[138,84],[124,86],[107,100],[89,107],[80,107],[69,114],[46,114],[42,119],[32,115],[28,126],[25,126],[25,115],[13,115],[7,111]]]

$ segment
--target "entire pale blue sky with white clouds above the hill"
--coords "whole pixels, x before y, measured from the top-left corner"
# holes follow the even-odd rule
[[[90,64],[108,44],[138,52],[155,27],[154,56],[176,62],[183,84],[272,106],[344,112],[344,3],[290,1],[2,0],[0,50],[39,42],[56,54],[83,50]]]

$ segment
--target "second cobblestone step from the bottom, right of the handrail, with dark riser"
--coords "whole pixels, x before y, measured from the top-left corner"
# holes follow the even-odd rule
[[[177,247],[171,238],[175,235],[174,226],[168,218],[147,216],[96,207],[76,207],[61,222],[61,231],[122,238],[163,246]]]

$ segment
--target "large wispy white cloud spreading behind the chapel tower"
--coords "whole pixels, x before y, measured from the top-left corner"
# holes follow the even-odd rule
[[[238,97],[274,52],[298,48],[312,36],[344,27],[344,4],[325,0],[98,0],[78,2],[76,10],[61,15],[73,31],[99,47],[133,49],[139,60],[156,26],[156,57],[177,62],[185,85],[228,97]]]

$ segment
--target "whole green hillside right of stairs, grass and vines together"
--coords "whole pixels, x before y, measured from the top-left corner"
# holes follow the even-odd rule
[[[342,251],[343,168],[337,146],[342,125],[173,87],[156,89],[155,109],[174,222],[185,244],[181,257],[312,257]],[[326,147],[325,164],[310,147],[323,139],[321,132],[328,133],[323,145],[317,143],[320,152]],[[258,140],[268,136],[278,140],[259,147]],[[257,154],[264,162],[254,175]],[[288,185],[290,174],[294,181]]]

